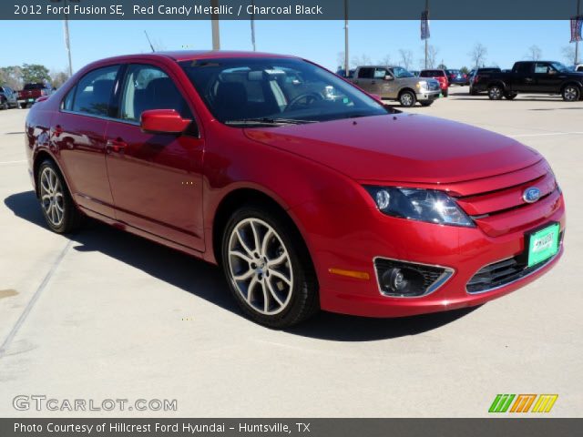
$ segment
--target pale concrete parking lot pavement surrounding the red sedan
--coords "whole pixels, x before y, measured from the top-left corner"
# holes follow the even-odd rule
[[[0,111],[0,416],[112,415],[18,412],[21,394],[177,400],[176,412],[118,417],[464,417],[486,416],[497,393],[557,393],[548,415],[581,417],[583,101],[453,87],[411,111],[540,151],[567,201],[565,256],[474,310],[322,313],[287,331],[244,319],[202,261],[98,223],[68,237],[46,229],[26,172],[27,110]]]

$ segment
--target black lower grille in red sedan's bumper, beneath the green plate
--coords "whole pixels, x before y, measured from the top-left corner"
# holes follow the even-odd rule
[[[562,241],[563,233],[559,236],[559,245]],[[477,273],[467,282],[465,290],[470,294],[484,293],[490,290],[504,287],[517,279],[524,278],[530,273],[547,265],[553,258],[545,259],[534,266],[528,267],[524,254],[514,258],[504,259],[486,267],[479,269]]]

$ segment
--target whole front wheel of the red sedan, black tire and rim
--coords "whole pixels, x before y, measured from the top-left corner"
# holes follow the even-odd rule
[[[320,309],[308,250],[290,219],[271,208],[245,205],[230,217],[222,239],[222,267],[247,317],[288,328]]]

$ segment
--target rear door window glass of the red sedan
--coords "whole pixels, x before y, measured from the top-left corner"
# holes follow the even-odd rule
[[[74,88],[76,90],[72,104],[70,104],[69,95],[71,93],[69,92],[65,98],[64,106],[67,107],[68,100],[74,112],[107,117],[118,70],[119,66],[104,66],[90,71],[79,80],[77,87]]]

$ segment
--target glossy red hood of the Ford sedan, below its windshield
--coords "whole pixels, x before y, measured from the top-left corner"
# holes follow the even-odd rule
[[[541,159],[514,139],[416,114],[248,128],[245,135],[363,181],[453,183],[526,168]]]

